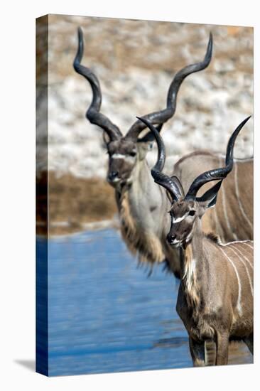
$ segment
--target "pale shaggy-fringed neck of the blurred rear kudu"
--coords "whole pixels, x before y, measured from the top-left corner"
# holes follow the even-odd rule
[[[132,183],[116,191],[122,235],[129,249],[139,253],[140,262],[154,264],[165,259],[161,242],[167,201],[164,197],[145,161],[134,167]]]

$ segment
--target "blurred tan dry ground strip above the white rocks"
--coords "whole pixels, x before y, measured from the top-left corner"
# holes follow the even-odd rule
[[[197,53],[205,49],[205,38],[210,31],[215,39],[216,55],[220,58],[227,58],[227,48],[222,49],[227,37],[234,37],[238,43],[245,36],[249,37],[248,45],[235,48],[236,63],[239,63],[239,55],[252,55],[250,27],[64,15],[50,15],[48,20],[50,80],[55,82],[74,75],[72,61],[77,48],[78,26],[82,26],[85,36],[84,63],[87,61],[92,67],[102,64],[112,75],[132,67],[173,73],[173,67],[177,70],[187,63],[183,49],[188,48],[196,58]],[[212,58],[212,67],[216,55]]]

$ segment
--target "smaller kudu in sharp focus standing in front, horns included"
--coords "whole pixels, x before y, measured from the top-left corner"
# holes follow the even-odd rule
[[[178,248],[181,267],[176,309],[188,331],[194,365],[205,365],[206,341],[216,344],[215,365],[227,364],[232,339],[244,341],[253,354],[253,242],[223,245],[218,237],[202,231],[201,220],[207,209],[215,206],[220,186],[232,171],[234,142],[248,119],[229,139],[225,166],[201,173],[187,193],[176,176],[162,173],[166,159],[163,140],[152,124],[141,119],[158,144],[158,160],[151,174],[166,188],[172,202],[167,240]],[[197,196],[211,181],[218,182]]]

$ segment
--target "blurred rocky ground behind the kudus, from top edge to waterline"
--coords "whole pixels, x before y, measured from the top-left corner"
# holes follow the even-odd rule
[[[82,16],[51,15],[48,20],[49,205],[53,227],[59,226],[53,228],[54,233],[111,219],[116,211],[113,190],[105,182],[102,130],[85,119],[92,91],[72,68],[78,26],[85,38],[82,63],[94,71],[102,88],[102,112],[123,133],[136,115],[165,107],[175,73],[204,58],[212,31],[209,67],[183,82],[175,116],[163,127],[166,171],[194,149],[224,153],[232,130],[253,114],[252,28]],[[38,156],[45,141],[38,132]],[[234,154],[252,156],[253,119],[239,135]],[[150,164],[155,159],[156,147],[148,154]],[[38,173],[44,172],[45,160],[37,163]],[[87,191],[90,188],[99,191]],[[107,209],[99,216],[86,212],[92,201],[100,204],[100,192],[103,202],[108,200]]]

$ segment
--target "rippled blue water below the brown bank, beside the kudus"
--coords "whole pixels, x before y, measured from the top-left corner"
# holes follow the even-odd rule
[[[177,293],[163,267],[148,277],[136,266],[115,230],[50,239],[49,375],[192,366]]]

